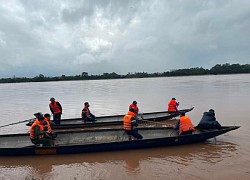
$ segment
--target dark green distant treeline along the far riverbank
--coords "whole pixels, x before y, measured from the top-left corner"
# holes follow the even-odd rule
[[[71,80],[97,80],[97,79],[122,79],[122,78],[148,78],[148,77],[170,77],[170,76],[193,76],[193,75],[217,75],[217,74],[239,74],[250,73],[250,64],[217,64],[211,69],[204,69],[202,67],[189,68],[189,69],[177,69],[163,73],[146,73],[135,72],[128,73],[126,75],[119,75],[115,72],[103,73],[102,75],[89,75],[87,72],[82,72],[76,76],[58,76],[58,77],[46,77],[43,74],[39,74],[34,78],[26,77],[13,77],[2,78],[0,83],[20,83],[20,82],[46,82],[46,81],[71,81]]]

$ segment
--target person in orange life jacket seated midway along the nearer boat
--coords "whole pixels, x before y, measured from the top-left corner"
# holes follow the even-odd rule
[[[123,117],[123,129],[129,136],[133,136],[136,139],[142,139],[142,135],[138,133],[138,130],[134,127],[137,127],[138,123],[136,122],[136,113],[134,109],[129,109],[128,113]],[[131,139],[130,139],[131,140]]]

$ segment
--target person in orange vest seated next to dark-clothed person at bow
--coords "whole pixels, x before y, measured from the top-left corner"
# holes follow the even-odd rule
[[[185,116],[185,112],[180,112],[180,120],[177,122],[175,129],[179,130],[179,135],[192,134],[195,131],[194,125],[190,118]]]

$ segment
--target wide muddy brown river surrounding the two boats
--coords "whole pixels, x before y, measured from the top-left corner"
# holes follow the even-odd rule
[[[119,152],[0,157],[0,179],[250,179],[250,74],[0,84],[0,126],[49,113],[49,99],[63,118],[80,117],[88,101],[96,116],[125,114],[136,100],[140,112],[167,110],[175,97],[197,125],[213,108],[222,125],[240,129],[192,145]],[[28,132],[24,123],[0,134]]]

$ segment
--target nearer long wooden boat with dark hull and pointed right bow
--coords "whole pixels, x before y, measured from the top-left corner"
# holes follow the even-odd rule
[[[170,127],[141,128],[139,133],[143,139],[132,141],[121,128],[64,131],[58,133],[57,145],[53,147],[32,145],[29,134],[0,135],[0,156],[74,154],[174,146],[203,142],[238,128],[239,126],[223,126],[220,130],[196,129],[193,134],[181,136]]]

